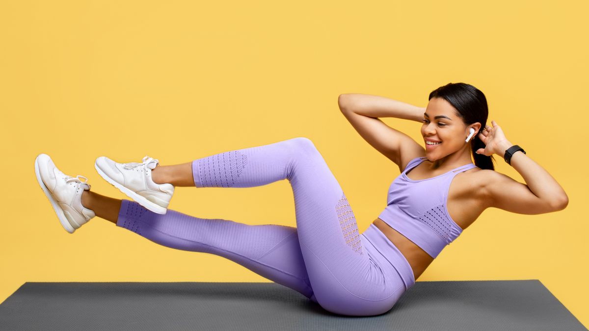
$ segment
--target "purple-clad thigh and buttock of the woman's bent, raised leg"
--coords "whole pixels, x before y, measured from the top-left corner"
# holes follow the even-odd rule
[[[317,302],[342,315],[379,315],[391,309],[405,284],[390,263],[359,234],[352,208],[315,145],[297,141],[289,179],[299,243]]]

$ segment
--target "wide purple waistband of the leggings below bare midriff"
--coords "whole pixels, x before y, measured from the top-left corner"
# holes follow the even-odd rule
[[[368,229],[362,233],[375,249],[382,254],[382,256],[395,268],[403,283],[405,283],[406,289],[415,284],[415,276],[413,275],[413,269],[411,265],[403,256],[401,251],[389,240],[378,227],[374,224],[370,224]]]

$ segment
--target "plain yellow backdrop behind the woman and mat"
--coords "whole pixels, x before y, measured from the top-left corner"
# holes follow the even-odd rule
[[[94,170],[107,155],[185,163],[310,138],[366,229],[398,167],[337,108],[346,92],[425,107],[466,82],[489,123],[567,192],[565,210],[491,208],[419,278],[539,279],[585,326],[585,1],[4,1],[0,4],[0,299],[24,282],[268,282],[211,254],[173,250],[96,217],[67,233],[34,176],[49,154],[92,190],[126,198]],[[585,22],[585,23],[584,23]],[[421,142],[416,122],[385,123]],[[500,157],[497,171],[523,182]],[[170,208],[296,226],[288,181],[177,188]]]

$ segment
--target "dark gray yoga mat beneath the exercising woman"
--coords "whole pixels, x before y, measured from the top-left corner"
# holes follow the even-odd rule
[[[417,282],[389,312],[327,312],[276,283],[27,282],[1,330],[587,330],[539,280]]]

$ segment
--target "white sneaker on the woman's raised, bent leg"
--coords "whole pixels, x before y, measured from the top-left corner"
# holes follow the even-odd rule
[[[96,171],[108,183],[118,188],[141,206],[158,214],[166,214],[174,186],[169,183],[156,184],[151,180],[151,169],[160,161],[145,155],[143,163],[117,163],[101,156],[96,159]]]

